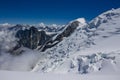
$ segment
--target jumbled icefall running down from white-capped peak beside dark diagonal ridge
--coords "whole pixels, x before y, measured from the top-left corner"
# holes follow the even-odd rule
[[[74,52],[81,50],[81,48],[89,47],[92,42],[87,36],[86,32],[86,21],[83,18],[71,21],[67,26],[75,24],[74,27],[77,27],[71,36],[63,37],[63,41],[61,41],[55,47],[46,50],[43,54],[45,54],[45,61],[40,60],[38,65],[33,69],[33,71],[37,68],[48,72],[53,70],[57,66],[60,66],[62,62],[66,60],[67,57],[72,55]],[[67,27],[66,27],[67,28]],[[63,32],[62,32],[63,33]],[[43,63],[43,64],[39,64]],[[40,65],[40,66],[39,66]],[[39,67],[38,67],[39,66]],[[42,66],[42,67],[41,67]],[[37,69],[38,70],[38,69]]]

